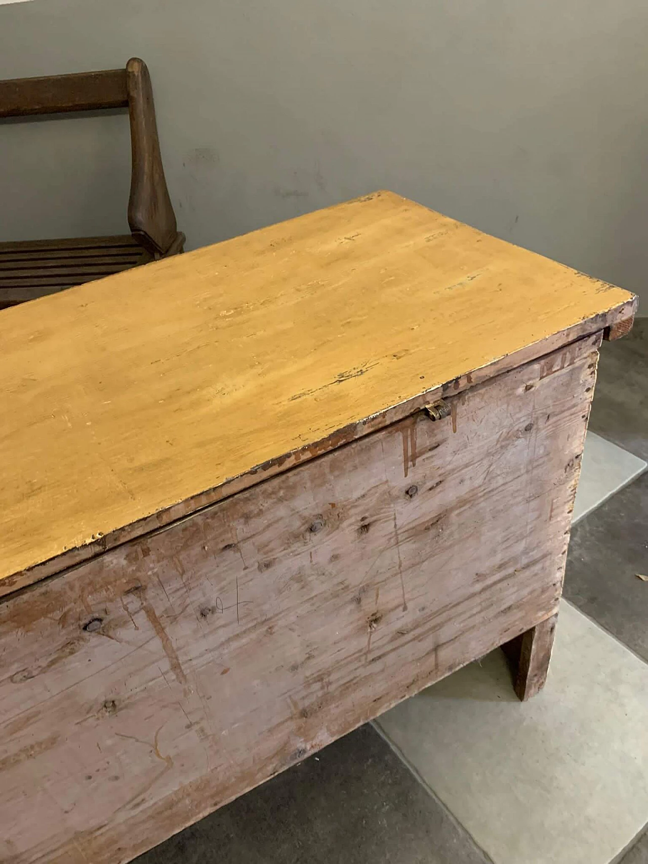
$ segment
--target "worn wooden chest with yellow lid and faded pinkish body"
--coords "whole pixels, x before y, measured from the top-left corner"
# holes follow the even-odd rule
[[[0,860],[118,864],[549,662],[635,298],[376,193],[0,314]]]

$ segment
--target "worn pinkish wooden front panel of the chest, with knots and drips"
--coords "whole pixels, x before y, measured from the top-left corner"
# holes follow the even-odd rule
[[[589,337],[0,606],[0,858],[116,864],[556,612]]]

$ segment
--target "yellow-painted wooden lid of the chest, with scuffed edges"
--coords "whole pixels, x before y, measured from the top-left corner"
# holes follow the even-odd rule
[[[633,304],[381,192],[6,309],[0,579]]]

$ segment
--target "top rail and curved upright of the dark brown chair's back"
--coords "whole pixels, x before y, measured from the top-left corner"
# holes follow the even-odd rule
[[[183,237],[168,196],[153,90],[143,60],[131,58],[125,69],[0,81],[0,118],[125,107],[132,155],[130,231],[156,257],[167,255],[177,251]]]

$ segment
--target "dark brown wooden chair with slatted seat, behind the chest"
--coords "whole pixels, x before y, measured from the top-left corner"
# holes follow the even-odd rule
[[[14,306],[182,251],[164,179],[149,70],[125,69],[0,81],[0,118],[128,107],[130,234],[0,243],[0,308]]]

